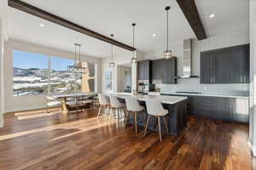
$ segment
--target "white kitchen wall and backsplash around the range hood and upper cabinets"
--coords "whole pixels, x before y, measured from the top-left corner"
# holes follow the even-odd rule
[[[200,53],[201,51],[226,48],[241,44],[249,43],[249,29],[242,28],[224,34],[208,37],[205,40],[193,40],[192,43],[192,75],[200,76]],[[172,52],[177,56],[177,76],[183,76],[183,41],[172,43],[170,46]],[[163,48],[148,51],[144,54],[144,59],[160,59],[163,58]],[[199,78],[178,79],[177,84],[161,84],[156,83],[156,87],[160,88],[163,93],[172,93],[176,91],[199,91],[209,94],[237,94],[248,95],[248,84],[201,84]]]

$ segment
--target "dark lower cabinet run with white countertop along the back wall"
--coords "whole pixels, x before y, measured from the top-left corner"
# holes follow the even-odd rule
[[[189,115],[205,116],[228,122],[249,122],[249,99],[183,94],[162,95],[186,96]]]

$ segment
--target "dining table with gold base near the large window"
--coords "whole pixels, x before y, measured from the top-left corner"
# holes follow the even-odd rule
[[[67,115],[68,111],[79,111],[82,109],[88,109],[91,105],[93,105],[93,99],[96,97],[96,93],[77,93],[77,94],[54,94],[52,97],[56,100],[61,101],[62,113]],[[75,103],[74,106],[68,105],[68,99],[72,99]],[[86,105],[78,105],[79,99],[91,99],[91,102],[85,103]],[[83,104],[83,102],[81,102]]]

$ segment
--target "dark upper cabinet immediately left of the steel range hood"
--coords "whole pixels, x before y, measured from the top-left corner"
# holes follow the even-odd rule
[[[152,61],[152,79],[165,84],[177,83],[177,58]]]

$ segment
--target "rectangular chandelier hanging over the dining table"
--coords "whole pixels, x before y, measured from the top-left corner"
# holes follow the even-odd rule
[[[68,72],[73,72],[73,73],[80,73],[80,74],[87,74],[87,67],[82,66],[81,62],[81,44],[79,43],[74,43],[75,46],[75,62],[74,65],[68,65],[67,66],[67,71]],[[79,54],[78,51],[79,50]],[[77,57],[79,57],[79,60],[77,60]]]

